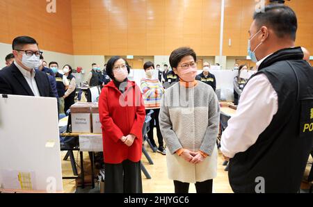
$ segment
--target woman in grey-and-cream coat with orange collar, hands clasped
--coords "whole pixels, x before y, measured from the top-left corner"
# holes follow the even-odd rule
[[[166,90],[159,115],[176,193],[188,193],[189,183],[195,183],[197,192],[210,193],[217,174],[220,108],[214,90],[195,81],[196,58],[188,47],[172,51],[170,66],[180,81]]]

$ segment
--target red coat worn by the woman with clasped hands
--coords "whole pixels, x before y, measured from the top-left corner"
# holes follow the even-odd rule
[[[99,116],[102,123],[104,163],[118,164],[124,160],[139,162],[143,147],[145,104],[141,90],[133,81],[127,81],[124,94],[113,81],[102,89],[99,97]],[[127,147],[120,138],[136,135],[134,144]]]

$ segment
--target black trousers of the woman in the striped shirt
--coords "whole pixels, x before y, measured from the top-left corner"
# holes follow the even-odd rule
[[[163,137],[161,134],[161,130],[160,130],[160,124],[159,124],[159,113],[160,113],[160,109],[156,108],[156,109],[152,109],[154,111],[154,113],[152,113],[151,115],[151,121],[150,121],[150,131],[147,133],[147,136],[151,142],[151,144],[153,144],[154,146],[157,146],[157,144],[155,144],[154,142],[154,138],[153,138],[153,129],[154,129],[154,120],[155,120],[155,124],[157,127],[157,136],[158,136],[158,142],[159,142],[159,147],[163,147]],[[145,113],[149,113],[150,110],[145,110]]]

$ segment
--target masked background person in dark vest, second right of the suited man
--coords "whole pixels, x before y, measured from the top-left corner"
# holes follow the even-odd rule
[[[64,65],[63,67],[64,76],[67,78],[68,83],[70,84],[65,94],[64,98],[64,112],[66,113],[70,107],[75,104],[75,94],[76,94],[76,79],[72,75],[72,67],[70,65]]]

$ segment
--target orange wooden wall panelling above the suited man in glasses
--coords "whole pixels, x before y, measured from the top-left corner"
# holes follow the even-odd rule
[[[47,2],[3,0],[0,3],[0,42],[12,44],[19,35],[38,41],[40,49],[73,53],[71,1],[57,1],[56,13],[47,13]]]

